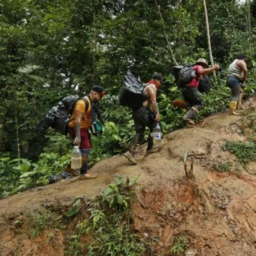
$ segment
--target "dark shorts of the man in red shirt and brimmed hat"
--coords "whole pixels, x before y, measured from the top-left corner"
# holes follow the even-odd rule
[[[199,110],[203,107],[204,101],[198,88],[186,86],[181,92],[188,108],[195,106]]]

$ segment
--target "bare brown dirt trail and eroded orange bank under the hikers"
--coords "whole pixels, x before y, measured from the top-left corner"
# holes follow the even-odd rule
[[[253,111],[256,98],[244,105]],[[98,175],[94,180],[72,178],[1,200],[0,224],[42,205],[60,209],[78,196],[90,198],[104,189],[116,173],[140,175],[140,198],[145,207],[134,203],[133,226],[153,241],[152,255],[168,255],[174,239],[182,236],[194,252],[191,255],[256,256],[256,177],[244,170],[238,177],[213,168],[227,162],[235,166],[236,157],[223,151],[223,145],[225,140],[245,140],[239,126],[243,118],[229,116],[227,111],[209,116],[193,128],[166,135],[159,152],[145,155],[144,146],[136,155],[137,165],[116,155],[93,166],[91,171]],[[184,176],[181,155],[186,152],[187,161],[194,161],[193,180]],[[255,163],[249,166],[256,169]],[[1,240],[10,248],[15,235],[8,227],[2,226],[0,231]],[[0,255],[8,255],[3,254],[7,251],[1,254],[0,248]],[[27,255],[41,253],[44,250],[35,248]],[[63,255],[63,251],[49,251],[48,255]]]

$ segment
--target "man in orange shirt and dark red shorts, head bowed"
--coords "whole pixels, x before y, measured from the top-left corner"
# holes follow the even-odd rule
[[[70,116],[70,122],[68,124],[68,133],[74,140],[75,145],[79,145],[82,153],[82,167],[81,175],[90,178],[90,174],[87,173],[87,160],[90,154],[92,143],[90,140],[90,133],[88,129],[91,127],[91,111],[93,108],[93,102],[99,102],[106,94],[105,90],[101,86],[93,86],[90,94],[84,96],[76,102],[72,116]],[[70,166],[64,166],[64,171],[71,173],[73,176],[79,174],[75,169]]]

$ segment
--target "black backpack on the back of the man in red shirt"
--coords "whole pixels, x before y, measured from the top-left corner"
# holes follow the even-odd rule
[[[187,64],[172,67],[172,72],[175,77],[175,83],[178,87],[183,87],[196,77],[196,72],[193,69],[193,66]]]

